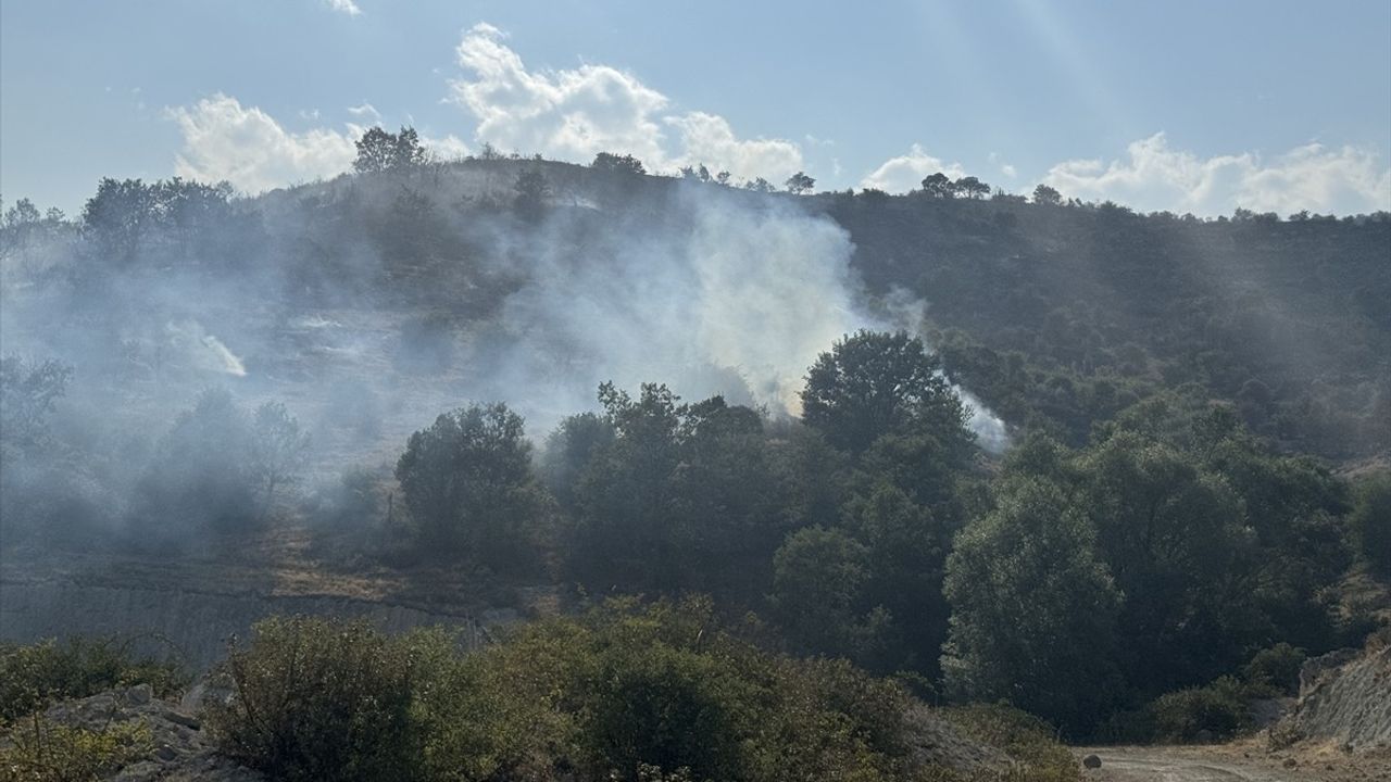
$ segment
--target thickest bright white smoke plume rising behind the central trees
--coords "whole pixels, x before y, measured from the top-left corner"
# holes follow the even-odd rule
[[[687,399],[800,415],[817,356],[860,328],[918,333],[921,301],[894,292],[868,308],[850,267],[850,235],[794,202],[743,199],[687,185],[682,228],[637,224],[615,246],[577,253],[565,225],[540,231],[529,284],[504,308],[516,340],[490,372],[536,424],[591,408],[598,383],[664,381]],[[540,394],[522,395],[533,388]],[[982,447],[1007,444],[1004,423],[953,385]]]

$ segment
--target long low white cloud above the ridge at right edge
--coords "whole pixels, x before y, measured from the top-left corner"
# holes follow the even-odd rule
[[[1064,196],[1114,200],[1141,212],[1230,214],[1245,207],[1288,214],[1391,209],[1391,168],[1369,150],[1295,147],[1271,160],[1256,153],[1199,157],[1170,149],[1163,132],[1132,142],[1124,160],[1066,160],[1043,182]]]

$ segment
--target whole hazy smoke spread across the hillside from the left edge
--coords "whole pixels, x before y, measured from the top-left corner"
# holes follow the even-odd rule
[[[512,203],[529,170],[545,209]],[[93,456],[93,513],[120,519],[210,388],[241,406],[228,420],[284,402],[313,434],[312,481],[337,481],[470,401],[508,402],[540,440],[609,380],[796,416],[836,340],[922,324],[907,296],[869,302],[849,234],[793,198],[586,175],[494,161],[344,177],[134,238],[54,227],[4,253],[0,351],[74,369],[56,426]]]

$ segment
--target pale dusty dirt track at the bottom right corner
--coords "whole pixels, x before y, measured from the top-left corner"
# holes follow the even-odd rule
[[[1079,747],[1102,767],[1086,782],[1384,782],[1391,753],[1346,754],[1326,744],[1269,751],[1262,739],[1193,747]],[[1292,761],[1292,765],[1287,765]]]

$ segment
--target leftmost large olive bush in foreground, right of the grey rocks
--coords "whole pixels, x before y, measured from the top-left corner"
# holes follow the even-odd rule
[[[220,671],[232,699],[207,711],[221,751],[275,779],[415,779],[412,715],[428,636],[388,639],[366,622],[274,618]]]

